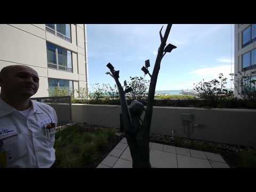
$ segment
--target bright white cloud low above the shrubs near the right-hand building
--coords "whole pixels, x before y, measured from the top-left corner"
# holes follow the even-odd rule
[[[189,72],[189,74],[194,74],[205,78],[206,81],[209,81],[213,78],[218,78],[220,73],[222,73],[224,77],[229,77],[229,74],[231,73],[230,65],[201,68]]]

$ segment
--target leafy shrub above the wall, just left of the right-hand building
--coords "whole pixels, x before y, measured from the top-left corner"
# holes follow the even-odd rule
[[[194,90],[197,91],[198,97],[202,99],[220,100],[231,95],[231,91],[226,89],[227,78],[219,74],[219,79],[212,79],[209,82],[199,82]],[[195,85],[195,84],[194,84]]]

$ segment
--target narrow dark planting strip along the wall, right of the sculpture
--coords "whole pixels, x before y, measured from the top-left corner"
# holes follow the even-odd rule
[[[169,135],[151,134],[150,142],[218,153],[231,168],[256,167],[256,150],[251,147],[226,145],[209,141],[199,141]]]

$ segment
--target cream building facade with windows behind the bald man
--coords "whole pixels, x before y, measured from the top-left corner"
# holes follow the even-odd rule
[[[26,65],[39,75],[33,97],[49,97],[54,87],[74,90],[88,85],[85,24],[0,25],[0,70]]]

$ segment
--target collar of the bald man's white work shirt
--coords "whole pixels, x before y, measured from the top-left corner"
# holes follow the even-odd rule
[[[38,113],[38,114],[43,113],[43,111],[38,107],[38,104],[35,101],[30,99],[29,102],[30,102],[31,110],[34,113]],[[13,111],[17,111],[17,109],[10,106],[8,103],[3,101],[2,98],[0,97],[0,117],[9,115],[9,114],[13,113]]]

